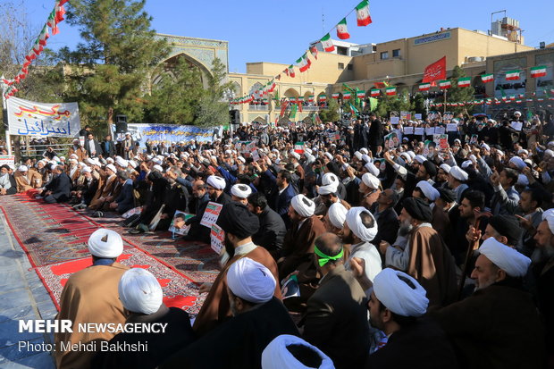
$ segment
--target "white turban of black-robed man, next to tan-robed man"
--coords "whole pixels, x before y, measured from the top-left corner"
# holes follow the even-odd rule
[[[164,299],[164,292],[154,274],[142,268],[123,273],[118,290],[123,306],[132,313],[154,314]]]

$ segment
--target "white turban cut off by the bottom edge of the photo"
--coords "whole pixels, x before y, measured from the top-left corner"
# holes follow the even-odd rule
[[[323,354],[323,351],[310,345],[305,340],[290,334],[281,334],[277,336],[262,352],[262,369],[309,369],[290,353],[288,346],[301,345],[314,351],[321,359],[322,364],[316,369],[334,369],[331,358]]]

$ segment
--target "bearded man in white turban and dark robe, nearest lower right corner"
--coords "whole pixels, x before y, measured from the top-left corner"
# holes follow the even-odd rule
[[[452,340],[462,367],[542,367],[541,318],[522,281],[531,260],[493,238],[479,252],[471,273],[474,294],[432,316]]]

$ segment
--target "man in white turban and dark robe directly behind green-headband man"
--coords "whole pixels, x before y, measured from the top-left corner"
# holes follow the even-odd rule
[[[279,275],[286,278],[302,264],[312,264],[315,239],[325,232],[323,222],[314,215],[315,203],[304,195],[292,197],[289,217],[292,225],[285,235]],[[315,273],[314,273],[315,276]]]

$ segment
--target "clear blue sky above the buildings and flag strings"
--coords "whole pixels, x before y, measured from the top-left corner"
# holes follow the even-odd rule
[[[21,4],[29,23],[38,30],[55,4],[54,0],[12,1]],[[322,38],[359,1],[147,0],[146,11],[159,33],[228,41],[229,71],[245,72],[246,63],[294,63],[310,42]],[[554,42],[552,0],[370,1],[373,23],[357,27],[356,13],[350,13],[348,41],[380,43],[435,32],[441,27],[487,31],[491,28],[491,13],[502,10],[519,21],[525,45],[538,47],[541,41],[547,45]],[[494,14],[494,19],[503,16]],[[336,38],[334,29],[331,35]],[[60,33],[48,39],[48,46],[72,47],[79,40],[79,29],[62,22]]]

